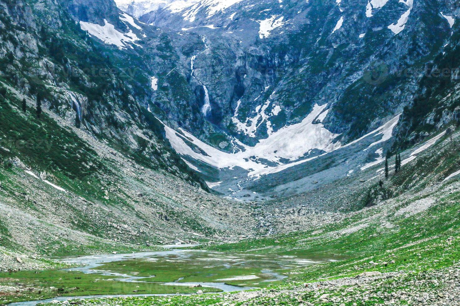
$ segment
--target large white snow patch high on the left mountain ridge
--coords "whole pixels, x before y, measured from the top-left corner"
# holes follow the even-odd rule
[[[128,46],[128,44],[134,44],[135,41],[139,40],[131,29],[128,33],[121,33],[115,29],[113,24],[110,24],[105,19],[104,23],[104,26],[100,26],[95,23],[81,21],[80,27],[92,36],[102,40],[105,44],[115,45],[119,49],[124,49]],[[132,46],[130,47],[132,48]]]

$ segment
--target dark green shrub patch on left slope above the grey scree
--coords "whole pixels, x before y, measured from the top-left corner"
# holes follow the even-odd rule
[[[106,171],[96,152],[73,131],[63,128],[47,114],[21,113],[22,100],[8,94],[0,97],[0,152],[21,156],[38,171],[59,171],[70,179],[85,179],[98,169]]]

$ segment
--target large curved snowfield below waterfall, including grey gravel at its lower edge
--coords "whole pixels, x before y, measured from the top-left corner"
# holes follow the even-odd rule
[[[258,116],[253,118],[252,122],[257,122],[259,125],[263,122],[270,122],[270,116],[264,116],[264,109],[260,113],[263,120],[259,120]],[[205,171],[203,166],[207,165],[221,171],[221,176],[216,178],[215,182],[208,182],[210,188],[230,197],[245,196],[249,200],[252,198],[248,196],[251,195],[251,192],[243,191],[245,183],[251,181],[252,184],[257,184],[257,181],[264,176],[327,161],[333,152],[334,158],[337,155],[343,157],[350,154],[350,150],[360,156],[348,163],[342,169],[340,176],[349,175],[353,171],[365,170],[385,160],[382,157],[383,149],[379,148],[379,145],[383,146],[391,139],[399,115],[361,138],[343,145],[337,140],[339,134],[331,133],[322,124],[327,114],[327,105],[316,104],[302,122],[281,128],[266,139],[260,139],[259,143],[254,146],[244,145],[234,139],[234,152],[232,153],[218,150],[182,128],[176,131],[165,125],[165,130],[173,148],[192,168],[201,172]],[[375,160],[368,161],[369,151],[373,148],[375,148]],[[338,173],[331,172],[331,175],[335,177]]]

